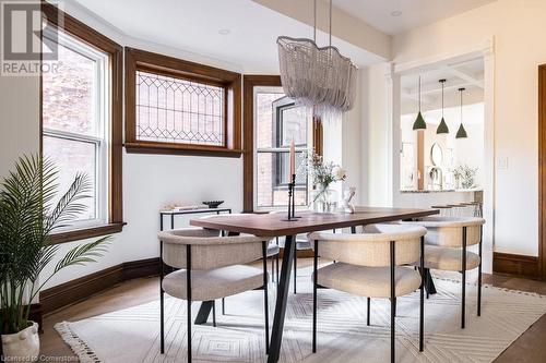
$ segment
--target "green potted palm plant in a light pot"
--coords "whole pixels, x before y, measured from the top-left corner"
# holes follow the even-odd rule
[[[59,270],[95,262],[107,247],[108,237],[70,250],[49,276],[40,276],[56,257],[59,245],[50,234],[68,226],[86,206],[91,183],[75,176],[58,198],[57,170],[39,156],[21,157],[0,184],[0,332],[7,361],[36,361],[38,325],[28,318],[36,295]]]

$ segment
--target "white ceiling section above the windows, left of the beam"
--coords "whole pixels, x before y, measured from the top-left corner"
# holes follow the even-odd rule
[[[277,36],[312,37],[310,26],[251,0],[78,2],[128,37],[221,60],[247,73],[278,72]],[[318,38],[324,43],[327,35],[319,32]],[[358,66],[380,61],[339,38],[333,44]]]

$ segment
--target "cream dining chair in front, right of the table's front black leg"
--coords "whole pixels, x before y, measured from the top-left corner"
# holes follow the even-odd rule
[[[335,289],[359,297],[368,303],[369,325],[370,299],[383,298],[391,301],[391,362],[395,360],[395,301],[397,297],[420,289],[419,305],[419,351],[424,341],[424,279],[413,268],[403,265],[418,262],[424,267],[424,235],[427,230],[418,226],[373,225],[373,233],[309,234],[313,256],[313,313],[312,352],[317,351],[317,288]],[[318,256],[337,263],[318,268]]]

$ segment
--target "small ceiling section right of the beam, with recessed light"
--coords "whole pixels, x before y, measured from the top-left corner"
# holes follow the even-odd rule
[[[309,0],[311,1],[311,0]],[[496,0],[332,0],[334,5],[390,35],[431,24]],[[401,11],[400,16],[392,16]]]

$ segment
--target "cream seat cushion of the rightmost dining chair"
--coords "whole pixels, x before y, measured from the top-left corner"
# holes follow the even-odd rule
[[[448,249],[434,245],[425,246],[425,267],[442,269],[446,271],[462,270],[462,249]],[[466,251],[466,269],[474,269],[479,266],[479,256]]]

